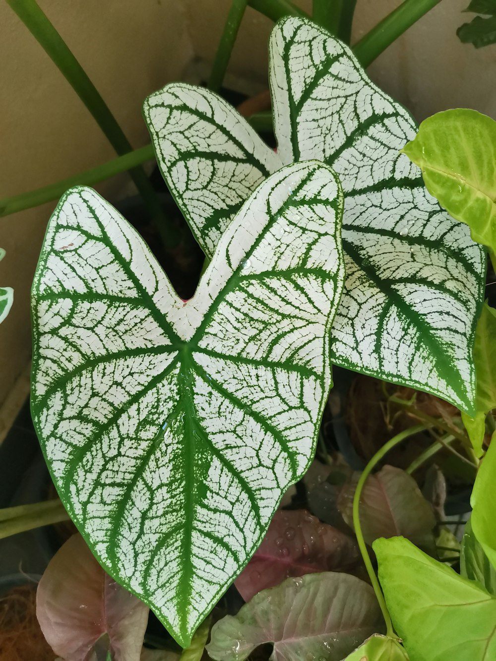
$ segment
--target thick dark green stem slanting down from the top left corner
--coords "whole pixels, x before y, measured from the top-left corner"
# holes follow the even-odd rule
[[[91,112],[115,151],[119,155],[132,151],[130,142],[99,94],[99,91],[93,85],[67,44],[65,44],[56,28],[54,28],[38,3],[36,3],[36,0],[7,0],[7,3],[15,11],[19,19],[22,20],[26,28],[28,28],[32,36],[42,46],[58,69],[60,69],[69,85],[71,85],[89,112]],[[158,229],[167,243],[165,247],[175,247],[179,243],[179,233],[177,233],[174,227],[161,227],[161,225],[165,226],[165,215],[163,214],[155,191],[145,175],[145,171],[142,168],[135,168],[130,171],[130,175],[147,206],[151,218],[157,222]]]

